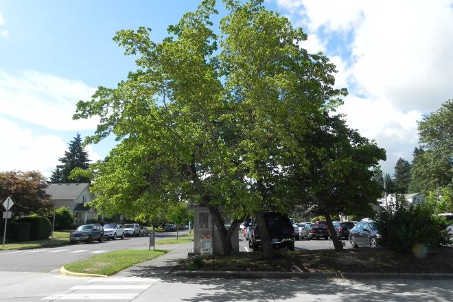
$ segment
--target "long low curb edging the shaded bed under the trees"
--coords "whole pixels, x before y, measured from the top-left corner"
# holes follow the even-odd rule
[[[453,274],[399,272],[239,272],[214,270],[177,270],[167,277],[237,278],[237,279],[453,279]]]

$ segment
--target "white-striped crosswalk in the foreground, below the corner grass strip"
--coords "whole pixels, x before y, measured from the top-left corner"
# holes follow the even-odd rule
[[[86,279],[86,284],[72,286],[66,292],[51,294],[42,301],[126,300],[135,299],[161,279],[139,277],[106,277]]]

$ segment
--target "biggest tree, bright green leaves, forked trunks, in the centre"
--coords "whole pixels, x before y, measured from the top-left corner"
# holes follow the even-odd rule
[[[74,117],[100,116],[87,143],[110,133],[120,140],[91,169],[97,209],[139,213],[189,200],[209,207],[225,253],[240,220],[255,215],[270,257],[262,213],[289,212],[299,201],[288,193],[287,161],[296,157],[291,168],[307,170],[300,142],[346,91],[333,88],[334,65],[302,49],[306,35],[288,19],[262,1],[224,3],[220,36],[213,0],[168,27],[161,42],[145,27],[119,31],[114,40],[139,68],[79,102]],[[229,230],[220,207],[235,218]]]

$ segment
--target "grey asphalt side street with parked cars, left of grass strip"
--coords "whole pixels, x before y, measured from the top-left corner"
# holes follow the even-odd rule
[[[179,233],[188,233],[180,231]],[[156,242],[161,239],[176,238],[176,232],[156,233]],[[61,266],[81,259],[111,251],[148,248],[149,237],[126,237],[124,240],[81,242],[54,248],[36,248],[0,252],[0,270],[10,272],[51,272]],[[159,245],[156,245],[159,248]]]

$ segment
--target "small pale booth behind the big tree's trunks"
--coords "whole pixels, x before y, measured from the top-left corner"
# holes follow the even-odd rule
[[[239,252],[238,232],[231,235],[231,246],[233,246],[233,252]],[[222,240],[220,240],[217,227],[213,225],[213,215],[207,207],[195,208],[194,253],[215,253],[216,255],[223,253]]]

